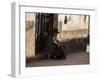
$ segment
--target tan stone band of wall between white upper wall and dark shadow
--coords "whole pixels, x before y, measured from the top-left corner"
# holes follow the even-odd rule
[[[88,36],[88,29],[80,29],[80,30],[71,30],[71,31],[62,31],[60,32],[61,41],[84,38]]]

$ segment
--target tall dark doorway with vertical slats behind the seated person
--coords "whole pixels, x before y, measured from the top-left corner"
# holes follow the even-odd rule
[[[44,53],[45,41],[53,34],[54,14],[36,13],[35,54]]]

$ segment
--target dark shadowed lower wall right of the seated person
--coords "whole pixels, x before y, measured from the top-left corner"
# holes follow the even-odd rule
[[[79,51],[85,52],[89,40],[87,37],[84,37],[84,38],[75,38],[75,39],[63,41],[62,43],[65,46],[66,53],[79,52]]]

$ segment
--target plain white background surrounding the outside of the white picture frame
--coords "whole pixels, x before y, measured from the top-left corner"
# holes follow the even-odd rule
[[[47,75],[45,77],[34,76],[21,78],[16,80],[100,80],[100,2],[99,0],[1,0],[0,1],[0,80],[15,80],[10,77],[10,67],[11,67],[11,2],[13,1],[25,1],[25,2],[33,2],[33,4],[46,4],[47,6],[64,6],[67,4],[71,5],[79,5],[79,6],[95,6],[97,11],[97,21],[94,29],[95,34],[95,48],[99,56],[96,57],[98,62],[97,73],[83,73],[83,74],[65,74],[61,76],[50,76]],[[96,21],[96,22],[97,22]],[[95,53],[94,53],[95,54]]]

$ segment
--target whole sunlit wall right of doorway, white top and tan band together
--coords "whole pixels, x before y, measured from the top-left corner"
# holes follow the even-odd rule
[[[64,23],[67,16],[67,23]],[[58,29],[62,41],[87,37],[89,34],[89,16],[86,15],[59,15]]]

